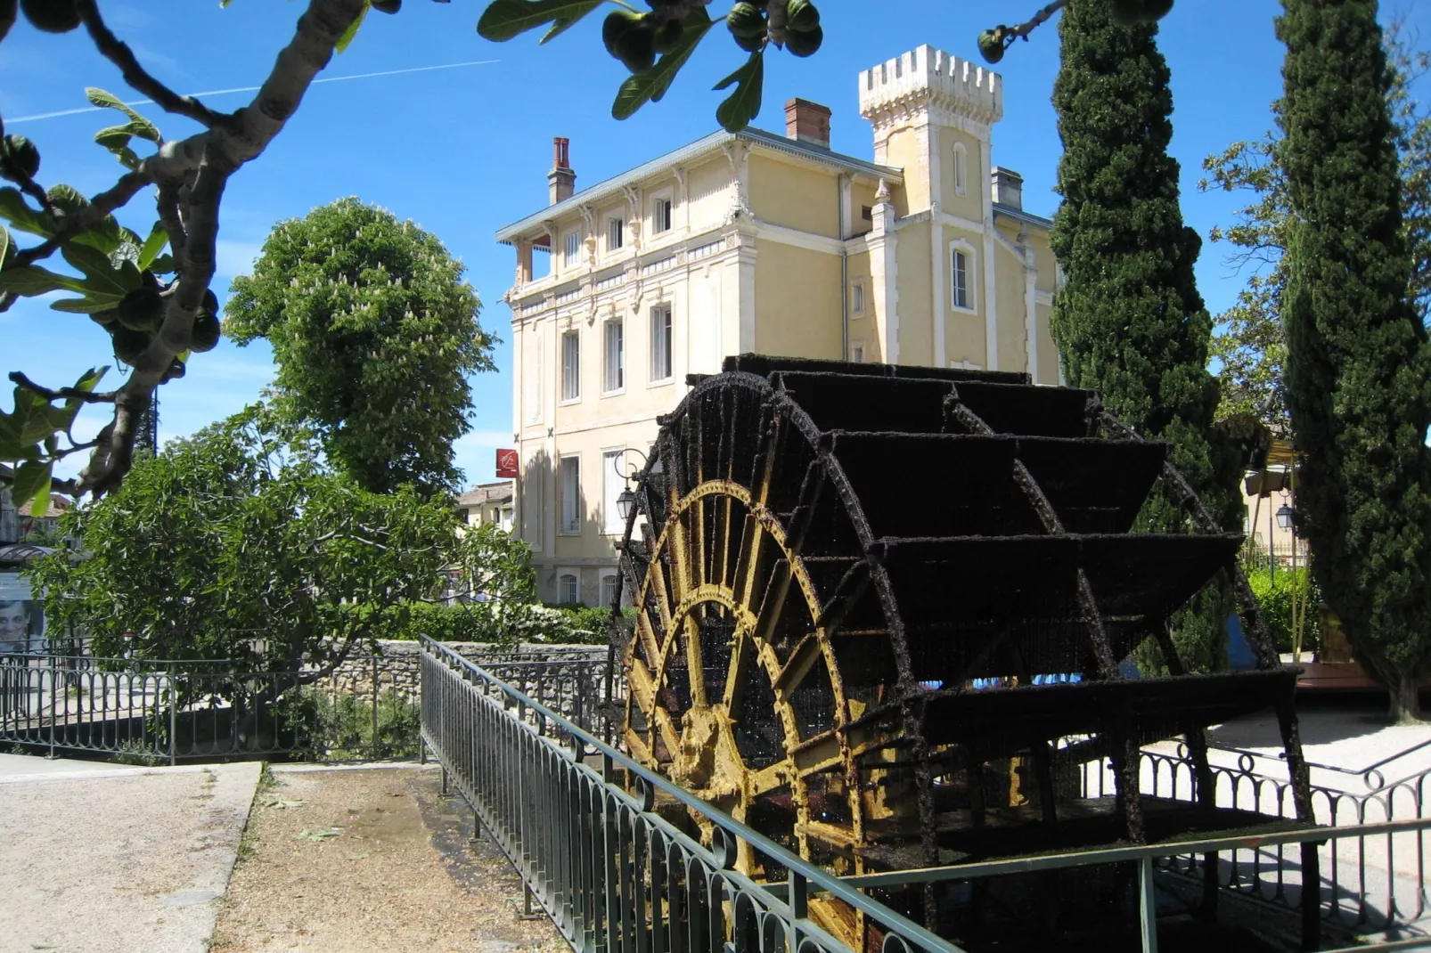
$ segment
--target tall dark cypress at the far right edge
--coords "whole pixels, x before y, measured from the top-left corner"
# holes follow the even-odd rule
[[[1431,673],[1427,333],[1410,299],[1375,0],[1284,0],[1279,159],[1292,207],[1282,323],[1296,525],[1394,717]]]

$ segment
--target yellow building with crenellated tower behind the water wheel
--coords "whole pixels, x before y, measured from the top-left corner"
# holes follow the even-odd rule
[[[544,600],[610,598],[624,452],[727,355],[1059,382],[1052,223],[993,165],[999,74],[922,46],[859,90],[873,162],[830,152],[830,110],[798,99],[784,136],[717,132],[581,192],[558,139],[551,205],[498,232],[517,249],[515,521]]]

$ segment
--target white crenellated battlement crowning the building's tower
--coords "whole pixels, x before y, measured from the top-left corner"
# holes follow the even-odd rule
[[[876,127],[919,107],[993,124],[1003,117],[1003,77],[929,44],[860,73],[860,116]]]

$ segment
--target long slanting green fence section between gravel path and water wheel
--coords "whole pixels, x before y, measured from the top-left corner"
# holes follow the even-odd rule
[[[445,645],[422,645],[422,738],[444,781],[578,950],[843,953],[809,917],[809,891],[821,890],[887,927],[890,953],[959,953]],[[635,778],[637,796],[615,783],[617,771]],[[658,793],[704,814],[714,849],[657,814]],[[734,870],[741,843],[781,864],[786,883]]]

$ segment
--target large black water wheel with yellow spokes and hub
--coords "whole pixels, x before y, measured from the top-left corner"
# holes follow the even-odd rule
[[[1191,675],[1173,650],[1169,615],[1241,537],[1129,532],[1159,479],[1186,489],[1163,458],[1025,375],[727,359],[663,418],[628,522],[627,748],[837,873],[1265,824],[1211,784],[1138,794],[1139,746],[1186,735],[1202,774],[1203,727],[1271,705],[1305,800],[1295,673],[1255,607],[1259,671]],[[1149,638],[1171,674],[1125,677]],[[1105,757],[1118,793],[1085,797],[1076,767]],[[934,891],[892,901],[947,929]]]

